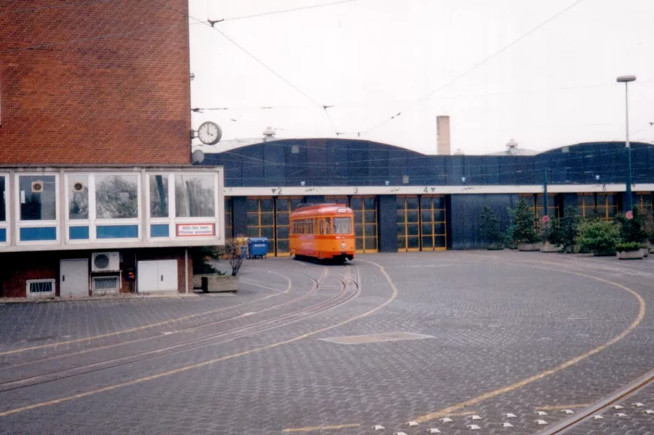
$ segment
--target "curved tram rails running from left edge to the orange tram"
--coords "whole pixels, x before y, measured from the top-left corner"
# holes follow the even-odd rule
[[[303,308],[302,310],[297,310],[294,313],[289,313],[286,315],[275,317],[273,319],[264,320],[246,326],[241,326],[235,329],[231,329],[229,331],[222,331],[220,333],[215,333],[204,337],[195,338],[193,340],[188,340],[182,343],[176,343],[174,345],[160,347],[158,349],[151,349],[149,351],[137,352],[135,354],[130,354],[128,356],[109,358],[109,359],[105,359],[104,361],[98,361],[96,363],[77,365],[75,367],[68,367],[63,370],[47,372],[45,374],[38,374],[36,376],[23,377],[20,379],[12,379],[10,381],[0,383],[0,394],[13,390],[29,388],[31,386],[38,386],[44,383],[59,381],[62,379],[70,379],[73,377],[81,376],[83,374],[99,372],[101,370],[109,370],[114,367],[121,367],[123,365],[139,363],[141,361],[146,361],[153,358],[169,356],[172,354],[179,354],[185,351],[198,349],[200,347],[219,345],[225,342],[229,342],[231,340],[235,340],[237,338],[244,337],[246,335],[252,335],[254,333],[269,331],[271,329],[284,326],[291,322],[296,322],[298,320],[304,319],[305,317],[310,317],[312,315],[323,313],[326,310],[330,310],[331,308],[335,308],[336,306],[340,306],[344,303],[347,303],[347,301],[349,301],[354,296],[356,296],[356,294],[358,294],[358,292],[360,291],[359,277],[358,277],[358,271],[356,271],[356,267],[354,266],[344,266],[344,267],[346,270],[346,274],[344,278],[340,278],[337,276],[330,276],[330,274],[326,274],[324,276],[321,276],[320,280],[317,280],[316,278],[308,274],[304,274],[302,272],[295,272],[297,274],[302,274],[304,276],[307,276],[311,280],[314,280],[314,290],[312,290],[312,294],[320,290],[321,285],[324,285],[327,278],[335,278],[336,280],[340,281],[342,285],[341,285],[340,292],[338,292],[338,294],[336,294],[335,296],[331,296],[326,301],[321,301],[310,307]],[[356,271],[355,278],[352,278],[351,276],[352,268],[354,268]],[[350,284],[352,284],[352,286],[350,286]],[[351,291],[348,292],[348,290]],[[243,317],[243,315],[237,317]]]

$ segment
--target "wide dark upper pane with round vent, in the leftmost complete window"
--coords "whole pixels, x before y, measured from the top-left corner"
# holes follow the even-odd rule
[[[20,175],[20,220],[56,220],[56,178],[54,175]]]

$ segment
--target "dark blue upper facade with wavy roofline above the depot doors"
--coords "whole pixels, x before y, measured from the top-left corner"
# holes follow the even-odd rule
[[[581,143],[535,156],[428,156],[383,143],[289,139],[208,154],[227,187],[595,184],[624,182],[623,142]],[[632,143],[634,182],[654,181],[654,147]]]

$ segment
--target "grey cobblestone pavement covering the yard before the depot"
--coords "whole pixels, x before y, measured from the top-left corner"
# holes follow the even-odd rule
[[[370,262],[381,264],[393,285]],[[0,432],[284,434],[284,429],[313,428],[301,433],[415,435],[429,428],[463,434],[478,425],[473,433],[537,434],[568,418],[565,410],[578,412],[653,368],[654,315],[644,310],[654,306],[653,262],[512,251],[361,255],[354,261],[361,283],[358,296],[317,315],[227,342],[26,388],[2,392],[0,379]],[[344,273],[343,267],[328,269],[334,276]],[[163,316],[157,310],[174,317],[228,304],[233,308],[211,318],[225,316],[229,321],[194,330],[188,338],[229,332],[329,300],[337,294],[337,280],[311,292],[311,278],[319,280],[324,270],[319,264],[290,259],[248,263],[245,280],[259,280],[259,285],[276,290],[254,286],[250,294],[202,299],[211,306],[190,299],[129,301],[124,309],[106,310],[104,302],[80,303],[78,315],[86,320],[79,327],[86,329],[71,333],[123,329],[109,318],[140,318],[139,310],[148,320],[132,324],[156,322]],[[280,293],[287,283],[268,271],[291,278],[291,290]],[[266,291],[280,296],[257,301]],[[274,308],[299,296],[304,299]],[[239,305],[243,302],[248,303]],[[51,306],[58,305],[63,303]],[[20,319],[17,322],[29,331],[75,330],[73,320],[63,319],[65,311],[50,314],[50,307],[41,309],[46,312],[40,316],[13,319]],[[60,322],[69,326],[58,326]],[[161,335],[171,329],[155,330]],[[352,345],[325,340],[379,333],[423,336]],[[3,337],[6,344],[0,351],[24,346],[14,341],[20,333],[12,334]],[[112,344],[132,338],[116,337]],[[165,340],[18,367],[22,371],[10,379],[155,349],[169,343]],[[12,356],[10,364],[17,357],[29,361],[42,355],[29,351]],[[61,398],[66,400],[49,403]],[[638,400],[646,404],[654,398]],[[2,415],[35,404],[44,405]],[[538,411],[547,415],[539,416]],[[445,417],[453,421],[439,421]],[[646,422],[648,415],[639,418]],[[420,424],[406,425],[411,420]],[[503,427],[505,422],[512,426]],[[385,429],[376,431],[373,425]],[[644,427],[616,433],[652,430]],[[587,430],[578,433],[597,433],[593,427]]]

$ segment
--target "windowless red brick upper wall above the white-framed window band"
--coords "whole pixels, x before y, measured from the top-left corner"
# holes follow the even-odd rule
[[[159,3],[0,2],[0,164],[190,164],[188,0]]]

